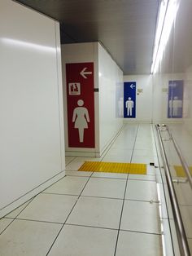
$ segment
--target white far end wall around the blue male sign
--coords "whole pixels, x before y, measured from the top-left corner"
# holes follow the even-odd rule
[[[124,76],[124,82],[136,82],[136,118],[124,121],[151,121],[152,119],[152,77],[151,75]],[[142,92],[138,92],[142,90]]]

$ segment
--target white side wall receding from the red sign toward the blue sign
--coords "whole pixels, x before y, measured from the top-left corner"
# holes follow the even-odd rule
[[[117,115],[119,95],[123,96],[123,72],[107,51],[98,44],[99,146],[100,152],[122,127]]]

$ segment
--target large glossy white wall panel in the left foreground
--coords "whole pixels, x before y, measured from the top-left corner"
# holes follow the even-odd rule
[[[0,2],[0,24],[2,216],[65,163],[59,24],[10,0]]]

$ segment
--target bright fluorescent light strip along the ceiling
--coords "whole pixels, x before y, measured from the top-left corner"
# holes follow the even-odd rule
[[[178,0],[162,0],[160,3],[151,73],[155,73],[159,67],[178,8]]]

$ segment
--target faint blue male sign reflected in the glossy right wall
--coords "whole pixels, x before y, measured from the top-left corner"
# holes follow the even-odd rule
[[[168,82],[168,118],[183,116],[183,81]]]

